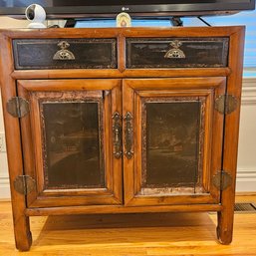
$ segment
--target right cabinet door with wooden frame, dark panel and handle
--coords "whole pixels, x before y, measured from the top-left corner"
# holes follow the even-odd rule
[[[127,205],[218,203],[225,78],[124,81]]]

